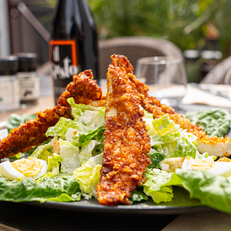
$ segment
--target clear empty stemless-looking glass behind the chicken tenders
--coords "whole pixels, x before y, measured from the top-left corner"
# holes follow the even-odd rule
[[[149,95],[167,106],[180,108],[187,84],[183,60],[168,56],[140,58],[135,74],[149,86]]]

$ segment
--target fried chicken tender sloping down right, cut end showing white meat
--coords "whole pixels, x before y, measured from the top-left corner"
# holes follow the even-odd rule
[[[218,157],[231,155],[230,138],[207,136],[201,126],[192,124],[189,119],[176,113],[173,108],[168,107],[165,104],[161,104],[157,98],[149,96],[148,87],[141,81],[137,80],[135,75],[133,75],[133,67],[126,57],[122,55],[112,55],[111,58],[114,66],[123,67],[126,70],[129,79],[136,85],[137,91],[144,96],[141,101],[142,107],[152,113],[153,118],[159,118],[164,114],[169,114],[170,119],[176,124],[179,124],[182,129],[186,129],[188,132],[198,137],[197,149],[201,153],[208,152],[210,155]]]

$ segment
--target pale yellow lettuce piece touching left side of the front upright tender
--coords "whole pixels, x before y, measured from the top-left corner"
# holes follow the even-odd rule
[[[100,170],[102,168],[102,155],[91,157],[81,167],[75,169],[74,177],[78,180],[82,192],[88,193],[89,196],[95,195],[95,189],[99,183]]]

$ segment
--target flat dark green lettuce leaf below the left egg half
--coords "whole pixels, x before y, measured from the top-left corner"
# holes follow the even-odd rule
[[[80,191],[79,183],[73,176],[59,176],[44,178],[37,182],[34,179],[10,181],[0,175],[0,200],[22,202],[45,202],[59,197],[63,193],[69,196]],[[61,201],[62,197],[59,198]],[[66,198],[65,198],[65,201]]]

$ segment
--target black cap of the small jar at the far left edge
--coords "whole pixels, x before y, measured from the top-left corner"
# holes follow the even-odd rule
[[[18,70],[17,56],[3,56],[0,57],[0,75],[14,75]]]

